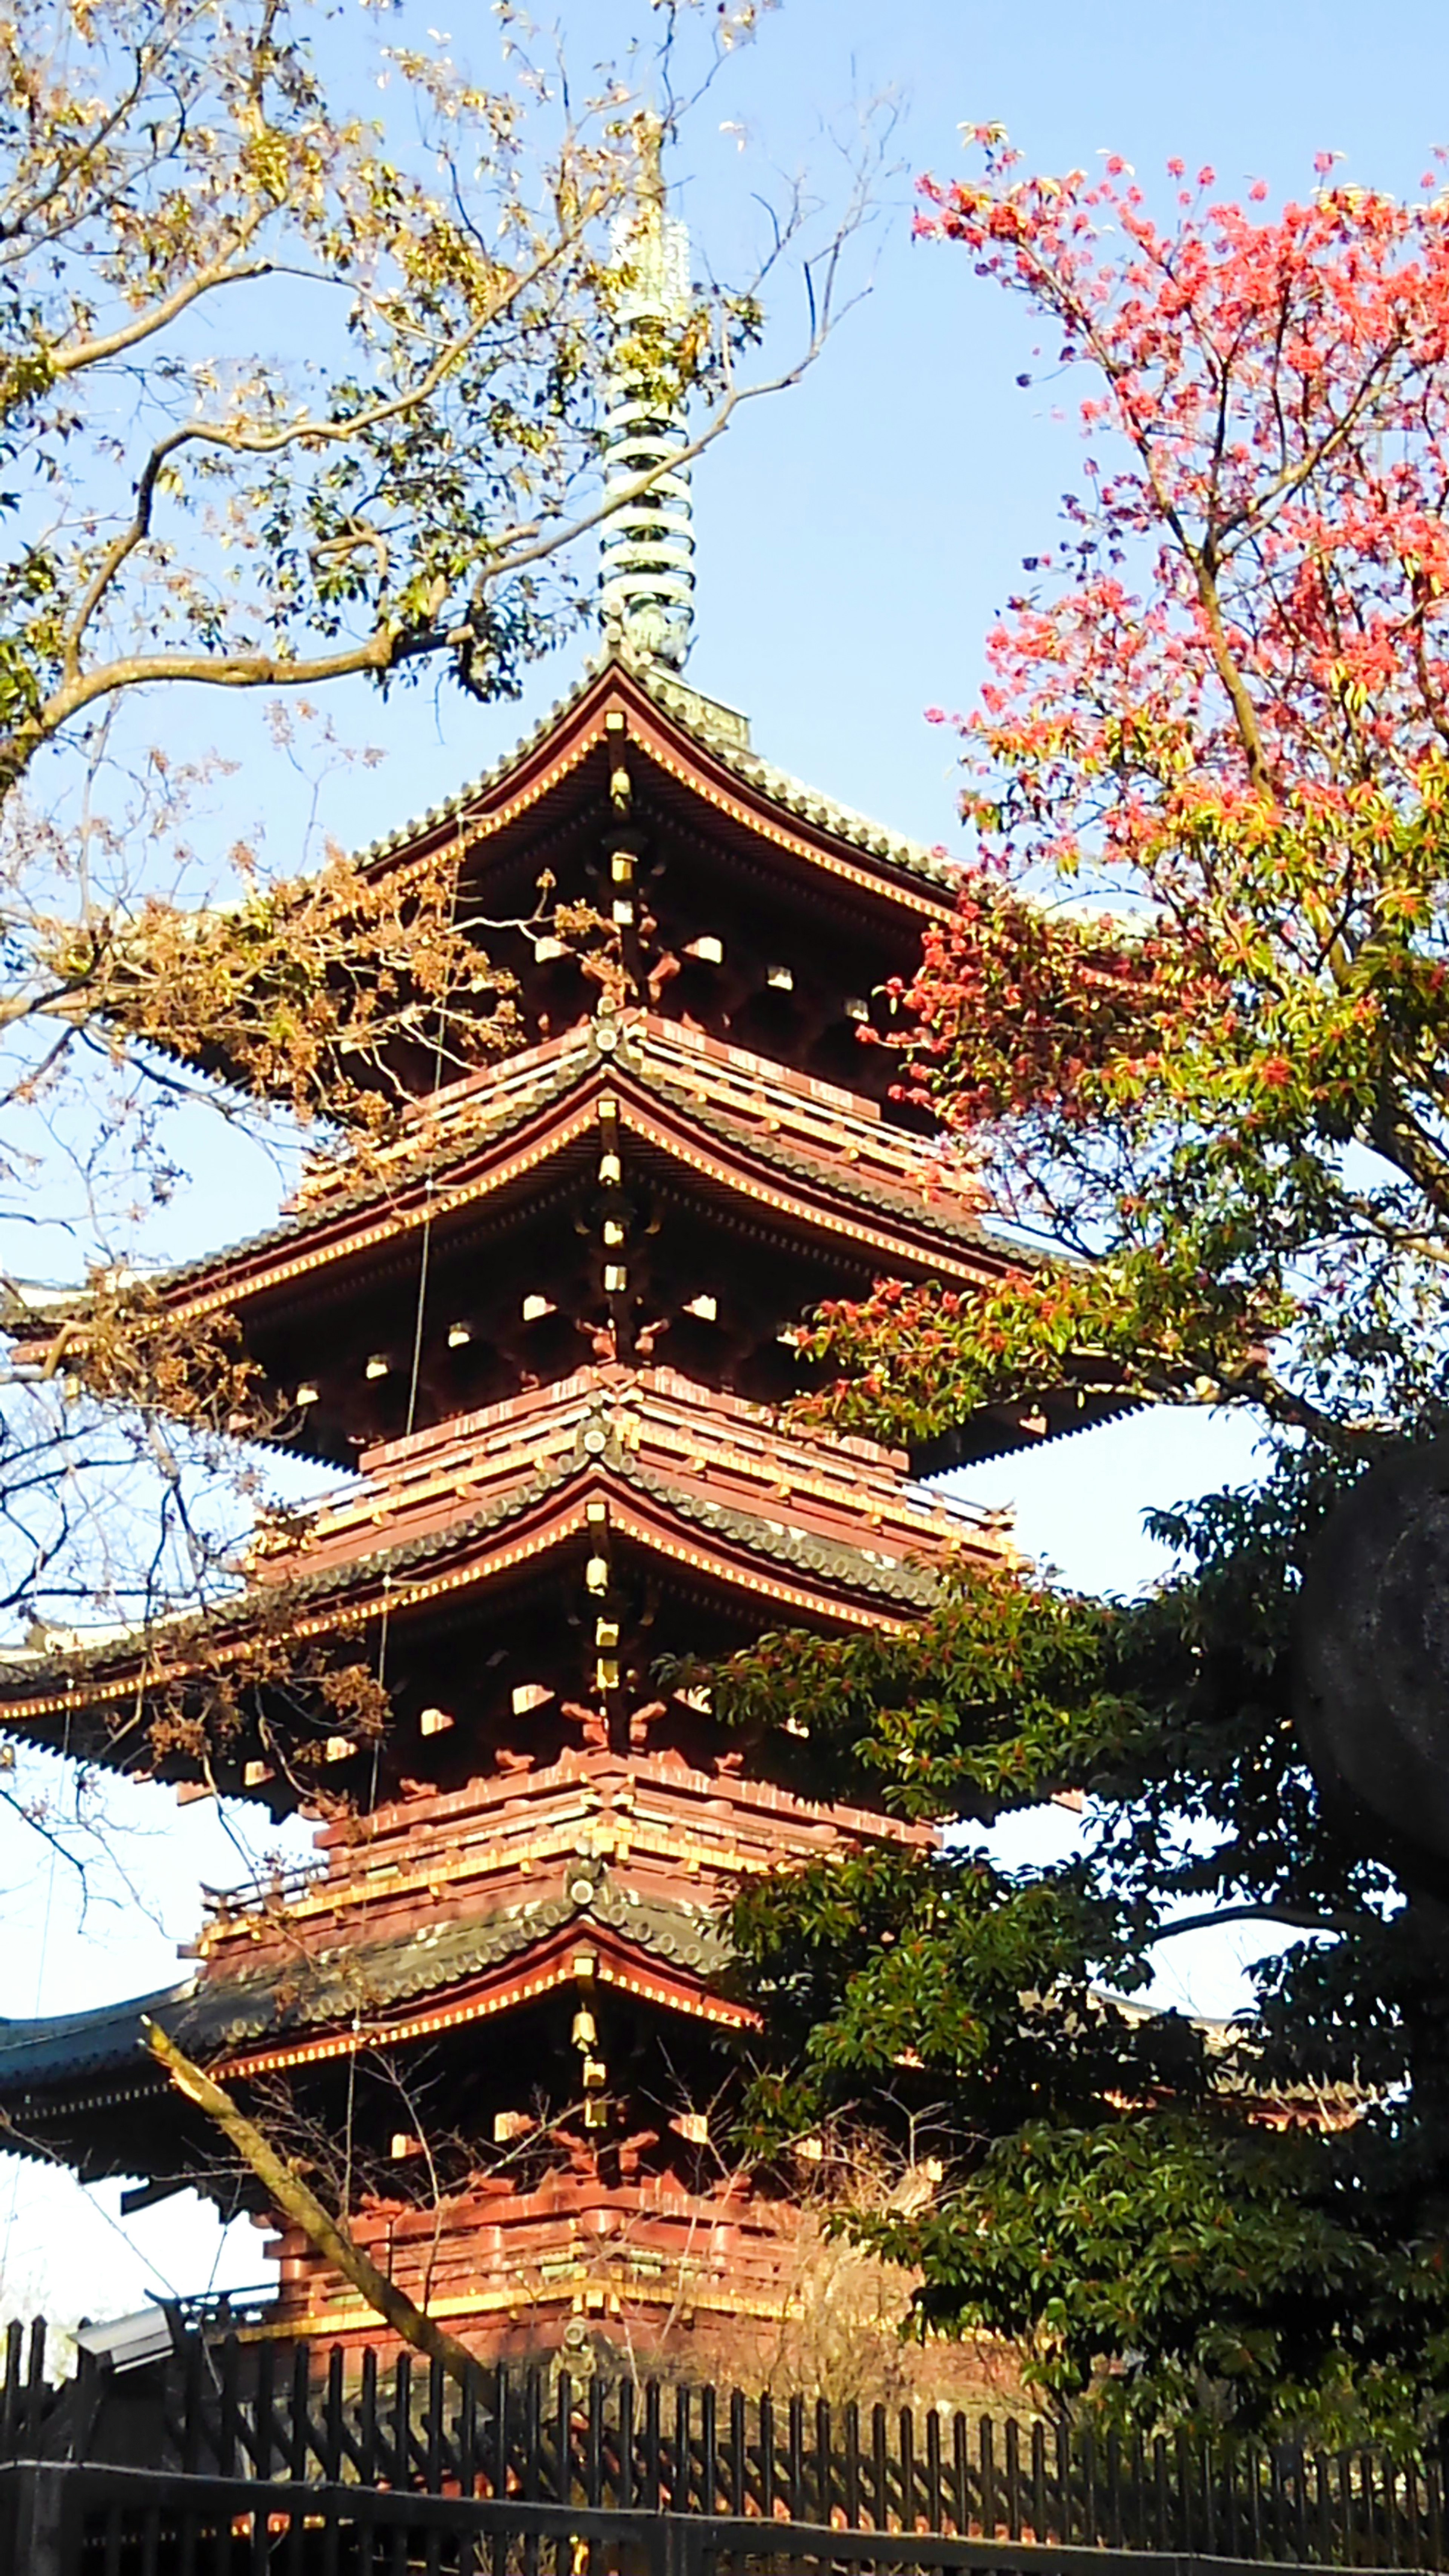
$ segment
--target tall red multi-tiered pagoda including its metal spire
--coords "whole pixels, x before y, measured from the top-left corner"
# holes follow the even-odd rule
[[[657,224],[657,291],[678,258]],[[678,435],[616,389],[616,479]],[[668,459],[665,459],[668,461]],[[570,2329],[761,2334],[789,2303],[792,2208],[727,2148],[750,2012],[719,1914],[743,1873],[910,1837],[807,1806],[704,1692],[655,1677],[773,1625],[910,1620],[949,1558],[1000,1548],[908,1461],[802,1435],[794,1321],[874,1278],[962,1288],[1008,1255],[887,1097],[861,1023],[946,871],[768,768],[678,677],[688,474],[606,538],[603,659],[495,773],[379,842],[400,878],[451,845],[490,922],[539,878],[608,922],[490,933],[523,1048],[418,1077],[382,1167],[317,1177],[260,1239],[160,1283],[229,1316],[294,1450],[348,1468],[258,1535],[193,1687],[235,1674],[224,1754],[168,1752],[186,1633],[15,1659],[5,1723],[183,1795],[312,1806],[317,1865],[214,1899],[193,1973],[0,2032],[13,2133],[139,2195],[250,2205],[168,2094],[155,2014],[340,2192],[356,2239],[480,2352]],[[982,1422],[980,1448],[1047,1427]],[[330,1667],[389,1700],[348,1734]],[[273,2331],[387,2342],[297,2231]]]

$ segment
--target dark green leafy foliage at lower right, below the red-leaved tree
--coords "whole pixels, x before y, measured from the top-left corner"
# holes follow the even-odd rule
[[[954,1826],[740,1896],[753,2151],[931,2141],[933,2202],[853,2221],[918,2269],[918,2331],[1008,2334],[1116,2419],[1410,2439],[1449,2411],[1449,1953],[1323,1814],[1289,1716],[1341,1476],[1292,1450],[1207,1497],[1189,1571],[1134,1605],[995,1574],[908,1638],[766,1638],[714,1680],[799,1785]],[[1088,1801],[1067,1862],[972,1839],[1060,1790]],[[1196,2027],[1132,2004],[1183,1909],[1315,1937],[1250,2022]]]

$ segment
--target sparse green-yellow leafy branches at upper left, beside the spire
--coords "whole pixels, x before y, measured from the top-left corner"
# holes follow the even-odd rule
[[[0,15],[0,788],[139,685],[441,662],[492,698],[557,639],[598,518],[616,219],[660,118],[632,72],[578,95],[495,18],[487,85],[441,39],[343,39],[307,0]],[[681,18],[634,64],[668,126]],[[719,10],[706,57],[753,18]],[[768,265],[804,219],[781,209]],[[763,392],[737,363],[755,289],[652,332],[699,443]]]

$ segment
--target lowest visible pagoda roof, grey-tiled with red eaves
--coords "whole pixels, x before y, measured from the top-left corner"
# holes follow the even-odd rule
[[[709,1906],[639,1899],[603,1875],[588,1896],[547,1893],[384,1942],[353,1937],[304,1958],[291,1950],[250,1973],[199,1976],[95,2012],[0,2022],[0,2102],[23,2105],[108,2076],[144,2079],[144,2020],[235,2079],[384,2040],[436,2038],[572,1984],[583,1947],[606,1986],[730,2027],[753,2022],[745,2004],[712,1991],[727,1940]],[[165,2089],[165,2076],[155,2076],[155,2089]],[[23,2130],[5,2143],[28,2146]]]

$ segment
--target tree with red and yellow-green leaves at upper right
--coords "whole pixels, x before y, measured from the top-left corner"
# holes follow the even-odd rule
[[[918,229],[1085,374],[1085,456],[959,719],[977,855],[908,994],[913,1079],[1093,1270],[892,1296],[822,1347],[869,1352],[902,1430],[1049,1381],[1065,1334],[1346,1440],[1444,1368],[1449,193],[1323,157],[1269,219],[1204,170],[1163,229],[1119,162],[977,144]]]

